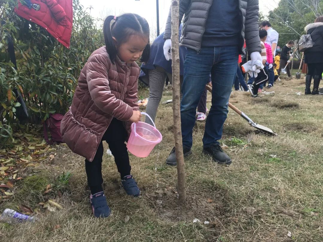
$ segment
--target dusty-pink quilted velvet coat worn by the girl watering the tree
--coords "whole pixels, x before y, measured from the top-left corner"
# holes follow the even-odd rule
[[[130,134],[130,117],[137,104],[139,66],[112,63],[105,47],[94,51],[78,79],[73,102],[61,122],[64,142],[76,154],[92,161],[113,117],[124,121]]]

